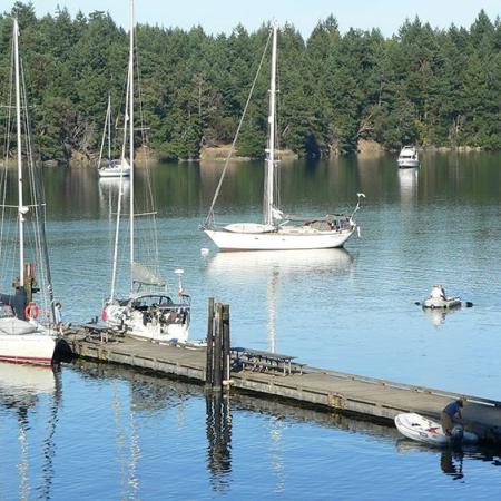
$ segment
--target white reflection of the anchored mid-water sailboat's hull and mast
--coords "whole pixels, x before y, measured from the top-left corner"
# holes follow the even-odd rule
[[[276,317],[282,281],[287,276],[322,276],[348,273],[353,256],[344,248],[314,250],[257,250],[217,253],[208,262],[208,273],[226,282],[250,285],[266,283],[268,351],[276,352]]]

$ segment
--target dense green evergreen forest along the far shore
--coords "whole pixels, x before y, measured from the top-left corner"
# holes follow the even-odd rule
[[[106,12],[72,19],[60,9],[38,19],[31,3],[17,2],[0,16],[2,105],[13,16],[41,159],[94,157],[108,94],[117,117],[124,107],[127,31]],[[200,27],[137,27],[143,109],[160,158],[198,158],[204,146],[233,140],[268,33],[268,26],[217,36]],[[263,155],[267,71],[257,80],[239,155]],[[284,26],[278,76],[279,144],[301,156],[355,153],[360,139],[387,149],[404,143],[501,149],[501,21],[484,11],[469,29],[414,19],[391,38],[377,29],[343,35],[334,17],[306,40]]]

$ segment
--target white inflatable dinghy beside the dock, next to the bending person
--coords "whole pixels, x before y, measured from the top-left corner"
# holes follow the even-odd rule
[[[407,439],[435,446],[445,446],[450,443],[473,444],[479,441],[474,433],[464,431],[461,425],[455,425],[452,435],[448,436],[439,423],[413,412],[399,414],[395,418],[395,425]]]

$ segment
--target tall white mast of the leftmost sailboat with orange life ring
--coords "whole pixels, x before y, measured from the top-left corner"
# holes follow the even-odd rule
[[[18,20],[13,20],[13,50],[16,71],[16,128],[18,140],[18,218],[19,218],[19,285],[24,286],[24,208],[22,204],[22,145],[21,145],[21,88],[19,69],[19,28]]]

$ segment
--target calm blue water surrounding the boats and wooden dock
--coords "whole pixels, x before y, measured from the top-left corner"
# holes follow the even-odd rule
[[[185,269],[191,337],[207,297],[227,302],[233,343],[302,362],[501,399],[501,165],[495,155],[284,165],[283,205],[350,209],[345,250],[219,254],[197,227],[220,166],[157,166],[163,271]],[[49,238],[66,321],[99,313],[109,288],[109,199],[86,169],[47,170]],[[139,173],[139,178],[141,177]],[[262,169],[230,169],[220,220],[258,220]],[[207,256],[200,248],[210,249]],[[474,303],[442,316],[414,305],[440,283]],[[125,278],[121,285],[125,286]],[[446,454],[394,429],[232,395],[119,367],[0,369],[0,499],[485,499],[499,451]],[[6,373],[7,371],[7,373]],[[12,370],[13,371],[13,370]],[[16,382],[29,381],[24,387]]]

